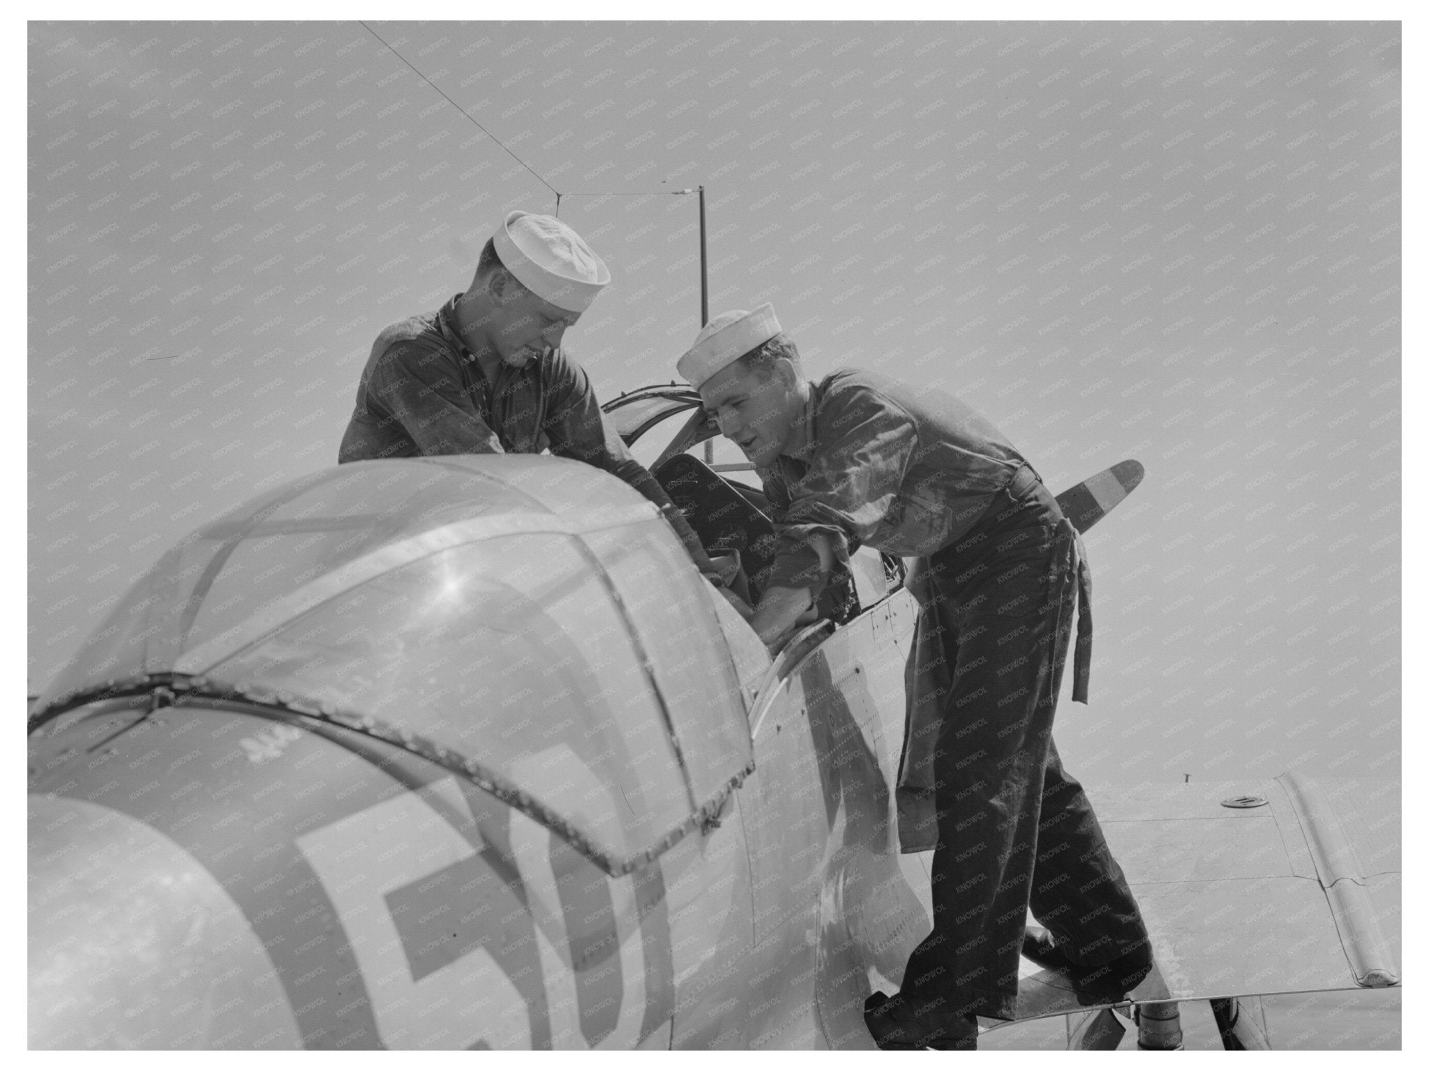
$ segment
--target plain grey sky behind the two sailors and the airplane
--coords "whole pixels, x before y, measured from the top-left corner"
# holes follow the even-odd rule
[[[29,687],[330,466],[372,340],[512,208],[613,281],[602,400],[773,301],[950,390],[1087,537],[1087,781],[1385,777],[1400,713],[1398,23],[29,24]],[[540,178],[537,178],[537,174]],[[609,196],[574,196],[574,194]],[[627,196],[627,194],[643,196]]]

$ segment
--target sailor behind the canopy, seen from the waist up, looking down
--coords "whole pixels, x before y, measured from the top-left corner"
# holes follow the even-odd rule
[[[700,571],[716,580],[690,526],[606,426],[589,377],[560,348],[566,328],[609,281],[604,261],[572,227],[510,213],[482,250],[466,293],[377,336],[339,464],[550,450],[619,476],[660,507]]]

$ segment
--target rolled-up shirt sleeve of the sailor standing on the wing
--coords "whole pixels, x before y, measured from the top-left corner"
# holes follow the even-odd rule
[[[802,477],[765,481],[779,537],[767,584],[807,587],[815,595],[833,563],[847,563],[895,510],[917,427],[879,393],[849,387],[820,398],[816,434]]]

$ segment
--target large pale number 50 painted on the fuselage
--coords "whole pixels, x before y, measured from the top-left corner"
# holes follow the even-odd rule
[[[633,1048],[667,1021],[659,865],[610,881],[519,811],[500,851],[474,823],[443,817],[466,814],[446,777],[297,838],[347,931],[383,1044]]]

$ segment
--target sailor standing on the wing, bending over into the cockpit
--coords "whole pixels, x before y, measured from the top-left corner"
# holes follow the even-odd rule
[[[913,648],[909,680],[932,655],[947,688],[910,703],[900,780],[909,744],[935,735],[933,931],[900,991],[869,998],[875,1041],[976,1047],[975,1015],[1015,1017],[1019,951],[1086,988],[1136,985],[1146,927],[1052,743],[1079,588],[1083,703],[1090,617],[1080,541],[1036,471],[943,391],[855,368],[806,380],[769,304],[714,317],[677,368],[765,483],[777,548],[750,624],[772,651],[860,544],[919,560],[920,628],[936,643]],[[916,833],[900,828],[905,850],[922,847]],[[1025,927],[1029,907],[1046,930]]]

